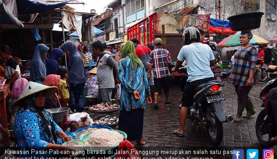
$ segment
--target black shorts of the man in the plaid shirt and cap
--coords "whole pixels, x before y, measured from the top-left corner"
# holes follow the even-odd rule
[[[169,92],[170,87],[170,76],[162,78],[154,78],[154,92],[161,94],[161,89],[163,88],[164,93]]]

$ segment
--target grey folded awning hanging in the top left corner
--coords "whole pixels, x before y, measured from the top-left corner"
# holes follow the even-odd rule
[[[12,12],[7,8],[7,6],[0,0],[0,10],[1,15],[7,18],[11,23],[19,28],[24,28],[24,25],[12,14]]]

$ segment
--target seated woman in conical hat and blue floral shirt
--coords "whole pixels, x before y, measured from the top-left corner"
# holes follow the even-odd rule
[[[53,121],[52,114],[44,108],[45,97],[57,92],[57,87],[49,87],[39,83],[28,82],[20,97],[13,103],[20,106],[16,115],[14,133],[17,138],[17,149],[29,154],[20,157],[53,157],[53,153],[35,154],[53,149],[54,151],[70,151],[62,146],[71,140]],[[68,154],[70,155],[70,154]]]

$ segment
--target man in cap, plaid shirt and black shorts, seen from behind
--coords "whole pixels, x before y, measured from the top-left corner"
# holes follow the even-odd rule
[[[161,38],[155,39],[157,49],[153,50],[149,55],[149,73],[147,78],[150,79],[151,70],[154,72],[154,108],[158,108],[158,95],[161,94],[161,89],[165,93],[165,105],[171,104],[168,99],[170,86],[170,73],[168,65],[172,64],[169,51],[161,48]]]

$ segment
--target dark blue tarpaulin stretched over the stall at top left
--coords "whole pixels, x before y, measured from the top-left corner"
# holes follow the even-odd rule
[[[16,0],[19,14],[43,13],[66,5],[68,2],[42,2],[37,0]]]

